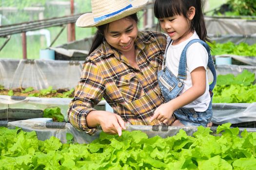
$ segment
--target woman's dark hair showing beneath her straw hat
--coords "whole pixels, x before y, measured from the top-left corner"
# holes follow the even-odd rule
[[[132,20],[134,20],[137,24],[138,24],[138,22],[139,22],[137,13],[132,14],[132,15],[127,16],[127,17],[124,17],[124,18],[132,19]],[[90,49],[88,55],[90,55],[95,49],[97,49],[98,46],[103,42],[104,33],[105,33],[105,31],[107,31],[108,25],[109,25],[109,23],[104,24],[104,25],[100,25],[100,26],[97,27],[97,32],[96,32],[96,34],[95,34],[95,36],[94,36],[93,43],[92,43],[92,46],[91,46],[91,49]]]

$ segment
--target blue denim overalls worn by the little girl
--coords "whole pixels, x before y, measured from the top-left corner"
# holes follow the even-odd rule
[[[185,126],[207,126],[207,123],[210,122],[213,116],[212,111],[212,98],[213,98],[213,88],[216,85],[217,75],[216,70],[214,67],[214,61],[211,56],[210,48],[208,44],[200,39],[193,39],[188,42],[188,44],[185,46],[183,51],[181,52],[180,59],[179,59],[179,66],[178,66],[178,75],[177,77],[168,69],[165,68],[165,58],[166,54],[164,55],[164,62],[163,66],[164,69],[158,71],[158,84],[160,86],[162,95],[165,99],[165,102],[169,102],[170,100],[177,97],[179,92],[183,89],[184,83],[183,79],[186,79],[186,51],[189,48],[189,46],[195,42],[198,42],[204,46],[204,48],[208,52],[208,68],[212,71],[214,76],[214,81],[211,85],[209,85],[209,92],[211,95],[211,102],[209,104],[209,107],[204,112],[197,112],[194,108],[179,108],[174,111],[174,114],[176,118]],[[166,47],[166,51],[169,47],[171,42],[168,43]]]

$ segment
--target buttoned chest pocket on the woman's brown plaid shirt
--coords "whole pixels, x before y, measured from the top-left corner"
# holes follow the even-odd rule
[[[116,86],[126,102],[133,102],[145,95],[142,85],[133,72],[116,79]]]

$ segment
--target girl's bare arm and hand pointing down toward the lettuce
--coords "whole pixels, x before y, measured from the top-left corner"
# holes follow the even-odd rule
[[[177,98],[160,105],[151,118],[151,121],[157,119],[166,123],[173,115],[173,112],[202,96],[206,89],[206,70],[204,67],[198,67],[191,72],[192,87],[182,93]]]

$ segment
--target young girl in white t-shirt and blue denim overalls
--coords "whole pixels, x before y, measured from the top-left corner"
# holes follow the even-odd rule
[[[207,126],[212,111],[212,90],[216,70],[207,38],[201,0],[156,0],[155,16],[168,34],[163,70],[158,84],[165,103],[151,120],[167,122],[174,114],[174,126]],[[213,73],[209,85],[207,70]]]

